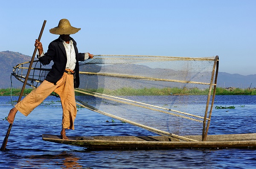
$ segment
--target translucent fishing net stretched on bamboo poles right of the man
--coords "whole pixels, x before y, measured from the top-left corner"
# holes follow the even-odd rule
[[[79,63],[76,100],[160,135],[198,140],[209,127],[216,58],[97,55]]]

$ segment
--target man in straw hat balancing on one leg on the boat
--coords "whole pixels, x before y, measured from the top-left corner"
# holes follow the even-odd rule
[[[71,26],[69,20],[61,19],[57,27],[49,30],[51,34],[60,36],[49,44],[47,53],[44,53],[41,42],[35,40],[39,61],[43,65],[53,61],[52,70],[38,88],[32,90],[10,110],[7,117],[10,124],[13,123],[17,111],[29,115],[54,91],[61,98],[63,110],[61,138],[68,139],[66,129],[74,130],[77,113],[74,88],[79,87],[79,61],[93,58],[90,53],[78,53],[76,41],[70,37],[70,34],[76,34],[80,29]]]

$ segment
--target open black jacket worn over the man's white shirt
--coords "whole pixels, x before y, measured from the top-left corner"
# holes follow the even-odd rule
[[[84,61],[84,53],[78,53],[76,41],[73,38],[71,38],[71,40],[73,41],[76,52],[74,87],[77,88],[79,87],[79,61]],[[56,84],[56,82],[58,82],[58,80],[63,76],[67,64],[66,50],[60,38],[55,39],[49,44],[47,53],[40,57],[39,61],[43,65],[48,65],[51,61],[53,61],[52,70],[48,73],[45,80]]]

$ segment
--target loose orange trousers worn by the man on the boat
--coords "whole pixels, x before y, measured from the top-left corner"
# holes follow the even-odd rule
[[[66,69],[67,70],[67,69]],[[73,71],[73,70],[67,70]],[[15,105],[17,110],[23,115],[29,115],[32,110],[41,104],[52,92],[57,93],[61,98],[62,129],[74,130],[74,121],[76,118],[76,100],[74,91],[73,74],[64,73],[61,79],[54,85],[51,82],[44,80],[41,85],[35,90],[32,90],[24,99]]]

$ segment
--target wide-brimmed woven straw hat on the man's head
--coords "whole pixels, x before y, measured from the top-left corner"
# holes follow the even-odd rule
[[[58,26],[50,29],[50,33],[57,35],[70,35],[76,34],[76,32],[80,31],[81,28],[75,28],[70,25],[70,22],[67,19],[61,19]]]

